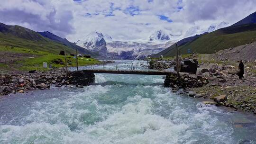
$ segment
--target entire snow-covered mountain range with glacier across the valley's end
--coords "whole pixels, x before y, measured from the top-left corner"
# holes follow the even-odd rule
[[[77,45],[111,59],[143,59],[147,55],[157,54],[163,51],[185,37],[211,32],[226,27],[227,25],[229,25],[229,23],[221,22],[212,24],[209,28],[193,26],[176,35],[172,35],[171,31],[157,30],[149,36],[149,40],[147,39],[140,42],[117,41],[113,40],[113,38],[107,34],[92,32],[78,41]]]

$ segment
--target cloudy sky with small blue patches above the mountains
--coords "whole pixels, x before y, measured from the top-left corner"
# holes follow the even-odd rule
[[[159,29],[184,35],[256,11],[256,0],[1,0],[0,22],[50,31],[72,42],[91,31],[117,40],[148,39]]]

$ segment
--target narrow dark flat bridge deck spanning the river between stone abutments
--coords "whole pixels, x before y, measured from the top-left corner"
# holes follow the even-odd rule
[[[82,70],[83,72],[91,73],[113,73],[113,74],[140,74],[140,75],[169,75],[176,72],[165,71],[115,71],[115,70]]]

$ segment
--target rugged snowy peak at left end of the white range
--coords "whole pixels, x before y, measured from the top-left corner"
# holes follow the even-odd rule
[[[85,38],[82,40],[77,41],[77,45],[90,49],[92,51],[98,51],[98,49],[106,45],[107,42],[106,40],[112,40],[112,37],[109,35],[103,35],[102,33],[99,32],[91,32],[89,35],[87,35]]]

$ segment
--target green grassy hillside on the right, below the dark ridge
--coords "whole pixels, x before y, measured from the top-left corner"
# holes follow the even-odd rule
[[[187,54],[188,49],[201,54],[213,54],[219,50],[245,45],[256,41],[256,24],[226,27],[205,34],[185,45],[179,46],[181,54]],[[176,54],[174,45],[165,50],[164,57]]]

